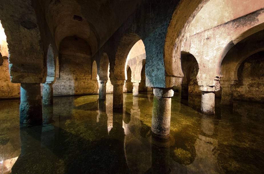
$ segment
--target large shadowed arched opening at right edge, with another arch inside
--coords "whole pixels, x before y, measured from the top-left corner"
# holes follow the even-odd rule
[[[262,69],[259,69],[263,65],[263,38],[261,30],[227,51],[221,63],[221,104],[233,105],[233,100],[263,102]]]

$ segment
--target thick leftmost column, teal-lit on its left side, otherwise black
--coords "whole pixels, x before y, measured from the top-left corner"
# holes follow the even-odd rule
[[[20,123],[28,125],[42,124],[40,84],[21,83],[20,93]]]

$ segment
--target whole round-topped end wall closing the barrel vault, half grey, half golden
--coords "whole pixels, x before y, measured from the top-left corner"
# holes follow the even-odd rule
[[[53,84],[55,96],[98,93],[98,82],[92,80],[91,57],[86,40],[68,36],[61,41],[56,61],[57,79]]]

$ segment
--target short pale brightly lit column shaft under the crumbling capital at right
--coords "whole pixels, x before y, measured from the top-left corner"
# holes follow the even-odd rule
[[[214,91],[202,91],[201,111],[205,114],[215,113],[215,92]]]

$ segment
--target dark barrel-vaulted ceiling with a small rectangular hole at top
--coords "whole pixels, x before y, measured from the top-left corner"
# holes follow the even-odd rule
[[[140,0],[39,0],[57,48],[68,36],[84,39],[92,55],[135,11]]]

